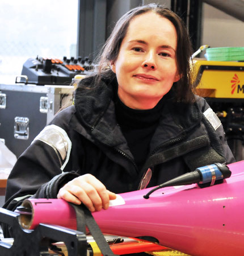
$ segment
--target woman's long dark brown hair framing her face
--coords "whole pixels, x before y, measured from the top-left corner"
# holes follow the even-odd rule
[[[180,80],[174,83],[172,90],[176,101],[193,102],[194,94],[192,92],[192,72],[190,68],[192,46],[188,36],[188,31],[183,20],[180,19],[178,15],[155,3],[136,7],[128,11],[128,13],[124,14],[118,20],[110,37],[107,39],[107,42],[100,51],[100,55],[96,59],[97,65],[91,75],[97,75],[96,82],[98,84],[102,76],[106,76],[107,78],[111,77],[111,79],[115,76],[109,68],[109,65],[111,62],[114,62],[119,55],[120,46],[127,34],[129,23],[135,16],[148,13],[149,11],[152,11],[163,18],[169,19],[170,22],[174,24],[177,33],[176,63]]]

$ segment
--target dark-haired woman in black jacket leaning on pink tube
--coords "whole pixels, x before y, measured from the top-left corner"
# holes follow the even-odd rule
[[[125,14],[74,105],[18,159],[5,208],[32,197],[107,209],[115,193],[234,162],[221,123],[192,92],[190,56],[187,30],[170,10],[150,4]]]

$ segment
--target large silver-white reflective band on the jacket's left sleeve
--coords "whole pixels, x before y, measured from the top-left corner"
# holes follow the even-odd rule
[[[62,160],[66,158],[64,164],[61,166],[61,170],[64,170],[64,167],[69,161],[72,145],[66,131],[57,125],[48,125],[36,136],[33,142],[37,139],[51,146],[54,151],[57,150]]]

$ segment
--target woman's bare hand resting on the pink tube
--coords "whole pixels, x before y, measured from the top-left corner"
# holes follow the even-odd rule
[[[73,204],[85,204],[94,212],[108,209],[110,200],[116,199],[116,194],[108,191],[101,181],[91,174],[79,176],[60,189],[58,199],[64,199]]]

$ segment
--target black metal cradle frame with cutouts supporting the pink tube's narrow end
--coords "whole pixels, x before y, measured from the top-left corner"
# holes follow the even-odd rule
[[[5,256],[40,256],[49,255],[48,248],[53,242],[64,242],[69,256],[86,256],[86,235],[77,230],[39,224],[35,230],[20,228],[19,213],[0,208],[0,220],[11,226],[14,234],[14,242],[0,241],[0,255]]]

